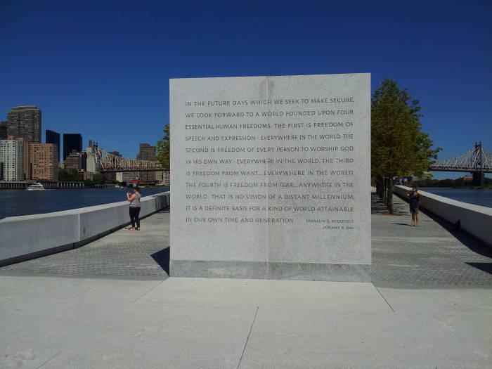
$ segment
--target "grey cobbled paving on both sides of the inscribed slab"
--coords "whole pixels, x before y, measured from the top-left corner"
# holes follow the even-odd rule
[[[373,283],[379,287],[491,287],[492,249],[471,235],[453,232],[432,214],[410,226],[404,200],[394,195],[388,215],[372,195]],[[167,278],[169,211],[142,221],[142,231],[121,229],[75,250],[0,268],[0,276],[98,276]]]

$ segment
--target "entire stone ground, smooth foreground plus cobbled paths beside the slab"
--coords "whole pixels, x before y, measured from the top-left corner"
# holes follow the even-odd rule
[[[167,278],[169,212],[0,268],[0,368],[491,368],[490,249],[373,197],[373,283]]]

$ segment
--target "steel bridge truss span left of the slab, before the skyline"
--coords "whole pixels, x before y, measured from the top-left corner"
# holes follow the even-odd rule
[[[126,157],[106,153],[101,148],[93,148],[93,150],[101,159],[101,173],[117,171],[169,171],[169,169],[162,167],[159,162],[127,159]]]

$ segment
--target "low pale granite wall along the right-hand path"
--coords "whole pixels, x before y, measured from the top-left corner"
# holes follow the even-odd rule
[[[411,190],[406,186],[394,186],[394,193],[406,198]],[[452,224],[460,221],[464,231],[492,245],[492,208],[467,204],[419,190],[420,207],[446,219]]]

